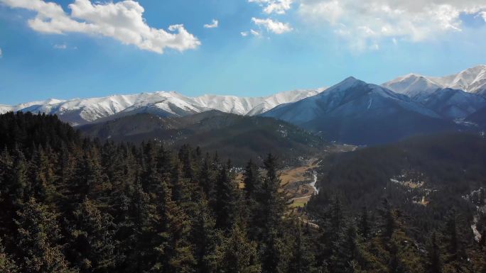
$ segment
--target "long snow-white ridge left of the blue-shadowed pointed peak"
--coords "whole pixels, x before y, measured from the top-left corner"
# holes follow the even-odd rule
[[[204,95],[189,97],[174,91],[157,91],[132,95],[113,95],[90,99],[61,101],[33,101],[16,106],[0,105],[0,113],[7,111],[31,111],[33,113],[57,114],[61,120],[72,125],[110,118],[129,116],[134,113],[156,113],[160,116],[186,116],[209,110],[254,116],[280,104],[304,99],[318,94],[323,89],[287,91],[264,97],[238,97]]]

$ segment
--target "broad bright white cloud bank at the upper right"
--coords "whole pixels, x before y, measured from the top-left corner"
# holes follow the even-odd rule
[[[485,11],[484,0],[301,0],[298,7],[305,21],[325,22],[353,43],[374,49],[381,38],[421,41],[461,31],[461,15]]]

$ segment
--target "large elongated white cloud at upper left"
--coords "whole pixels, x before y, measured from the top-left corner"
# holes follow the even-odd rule
[[[198,48],[200,41],[183,25],[167,30],[152,28],[143,18],[144,8],[136,1],[92,4],[90,0],[75,0],[68,7],[71,13],[53,2],[43,0],[0,0],[12,8],[36,11],[28,25],[41,33],[87,33],[104,35],[142,50],[163,53],[166,48],[188,50]]]

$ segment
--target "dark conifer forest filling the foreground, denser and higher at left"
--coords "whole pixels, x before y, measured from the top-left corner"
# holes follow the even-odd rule
[[[321,189],[296,213],[272,155],[239,185],[217,154],[100,143],[55,116],[1,115],[0,141],[0,272],[486,272],[463,210],[420,237],[399,189],[360,210]]]

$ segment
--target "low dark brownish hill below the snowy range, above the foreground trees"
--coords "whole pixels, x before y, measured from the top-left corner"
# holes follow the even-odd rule
[[[206,152],[230,157],[240,166],[249,158],[261,163],[269,152],[291,162],[298,156],[315,154],[328,144],[284,121],[220,111],[181,118],[142,113],[82,126],[80,130],[100,140],[134,143],[155,140],[175,149],[185,144],[199,146]]]

